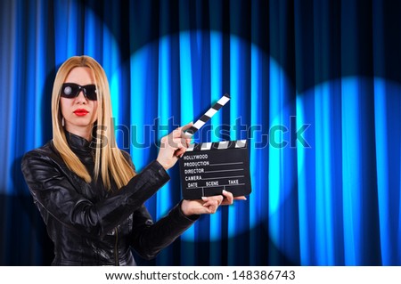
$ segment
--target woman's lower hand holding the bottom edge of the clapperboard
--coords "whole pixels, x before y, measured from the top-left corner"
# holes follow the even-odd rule
[[[220,205],[231,205],[234,199],[246,200],[244,196],[233,198],[233,193],[223,191],[223,195],[204,197],[198,200],[183,200],[181,210],[184,215],[214,214]]]

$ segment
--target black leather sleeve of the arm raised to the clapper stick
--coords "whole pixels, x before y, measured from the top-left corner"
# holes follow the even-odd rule
[[[34,201],[48,214],[71,230],[99,236],[126,220],[169,180],[159,162],[153,161],[110,198],[94,204],[74,188],[66,166],[39,151],[27,153],[21,169]]]

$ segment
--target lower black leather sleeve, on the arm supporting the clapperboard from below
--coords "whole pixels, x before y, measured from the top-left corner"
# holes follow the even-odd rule
[[[161,249],[168,247],[199,219],[199,215],[185,216],[181,211],[181,202],[156,223],[152,223],[146,207],[135,211],[131,246],[139,256],[148,260],[157,256]]]

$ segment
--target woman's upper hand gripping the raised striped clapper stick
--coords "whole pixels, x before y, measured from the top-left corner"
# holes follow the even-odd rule
[[[185,134],[184,130],[191,126],[192,122],[186,126],[176,128],[172,133],[161,138],[157,161],[166,170],[174,166],[178,158],[180,158],[184,154],[186,148],[188,148],[191,137]]]

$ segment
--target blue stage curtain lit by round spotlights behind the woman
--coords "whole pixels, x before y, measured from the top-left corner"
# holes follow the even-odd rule
[[[4,0],[0,20],[0,264],[52,261],[20,159],[52,139],[55,72],[79,54],[106,70],[138,170],[223,93],[194,141],[249,141],[248,200],[139,264],[401,264],[401,4]],[[169,174],[156,220],[181,197]]]

